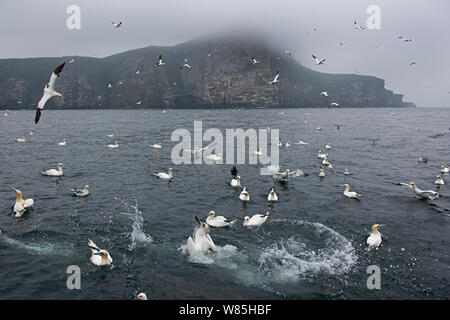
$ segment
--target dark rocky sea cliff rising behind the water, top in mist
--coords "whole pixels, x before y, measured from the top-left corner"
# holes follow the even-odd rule
[[[160,54],[166,65],[156,67]],[[0,60],[0,107],[35,108],[51,71],[70,59]],[[192,69],[179,69],[184,59]],[[268,84],[277,70],[280,82]],[[382,79],[316,72],[281,51],[236,39],[76,57],[56,87],[64,99],[54,98],[49,106],[65,108],[328,107],[332,101],[342,107],[411,106],[386,90]]]

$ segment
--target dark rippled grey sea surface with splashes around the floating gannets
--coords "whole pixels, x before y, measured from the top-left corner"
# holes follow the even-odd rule
[[[46,109],[38,125],[34,111],[4,113],[0,299],[131,299],[138,292],[150,299],[450,298],[450,199],[420,200],[385,183],[436,189],[440,166],[450,165],[450,109]],[[244,204],[229,185],[231,164],[172,163],[172,132],[193,134],[194,120],[224,134],[279,129],[292,144],[280,149],[281,170],[309,175],[280,183],[261,176],[260,164],[237,165],[251,198]],[[26,142],[16,142],[22,136]],[[67,145],[58,146],[63,138]],[[114,140],[118,149],[105,147]],[[311,145],[294,145],[298,140]],[[158,141],[160,150],[149,147]],[[320,179],[317,153],[327,143],[336,169]],[[63,177],[40,174],[57,162]],[[152,174],[169,167],[171,182]],[[352,175],[342,174],[346,168]],[[450,195],[450,175],[444,180],[440,192]],[[360,201],[343,196],[344,183]],[[70,189],[85,184],[90,196],[73,197]],[[12,216],[9,186],[34,198],[22,218]],[[274,204],[267,201],[271,187]],[[192,259],[185,245],[194,216],[204,220],[211,210],[238,221],[212,228],[217,253]],[[245,216],[266,211],[262,227],[243,227]],[[385,225],[383,243],[367,251],[375,223]],[[90,262],[88,239],[109,251],[111,267]],[[69,265],[81,269],[81,290],[66,286]],[[366,286],[371,265],[380,267],[380,290]]]

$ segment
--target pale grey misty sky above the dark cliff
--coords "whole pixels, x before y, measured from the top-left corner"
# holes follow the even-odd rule
[[[81,30],[66,27],[69,5],[81,8]],[[354,20],[366,27],[369,5],[381,9],[381,30],[355,30]],[[385,79],[404,101],[450,107],[449,16],[448,0],[0,0],[0,59],[104,57],[245,31],[271,39],[314,70],[361,70]],[[123,21],[123,28],[111,21]],[[312,28],[317,31],[307,34]],[[315,66],[311,54],[326,58],[325,65]]]

